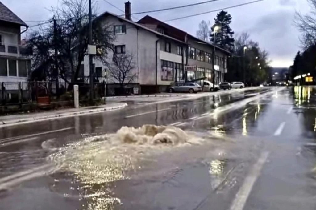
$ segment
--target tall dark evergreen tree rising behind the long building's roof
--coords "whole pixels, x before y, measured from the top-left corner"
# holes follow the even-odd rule
[[[214,40],[214,30],[211,32],[211,42],[217,46],[233,51],[234,50],[234,32],[230,28],[232,22],[232,16],[226,11],[221,11],[217,14],[214,26],[219,26],[219,30],[216,32],[216,40]]]

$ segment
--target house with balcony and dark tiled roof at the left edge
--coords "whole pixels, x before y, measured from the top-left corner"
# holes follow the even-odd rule
[[[21,32],[21,27],[26,29]],[[0,82],[24,82],[31,70],[30,57],[21,45],[27,24],[0,2]]]

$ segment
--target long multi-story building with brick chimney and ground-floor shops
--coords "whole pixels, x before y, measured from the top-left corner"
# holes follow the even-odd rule
[[[112,27],[115,36],[114,52],[108,55],[108,62],[113,61],[114,54],[133,55],[135,67],[132,72],[136,77],[125,86],[126,89],[149,93],[165,91],[171,83],[178,81],[202,78],[212,81],[213,45],[150,16],[138,22],[132,21],[130,2],[125,3],[125,18],[105,12],[98,19]],[[216,48],[216,83],[223,81],[229,54],[226,50]],[[84,76],[88,76],[88,56],[82,65]],[[96,74],[101,77],[108,71],[108,67],[98,60],[94,60],[94,67]],[[108,88],[112,89],[108,93],[114,94],[114,90],[119,88],[117,81],[111,77],[106,80]]]

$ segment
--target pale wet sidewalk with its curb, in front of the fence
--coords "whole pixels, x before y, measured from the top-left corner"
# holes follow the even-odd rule
[[[40,113],[30,113],[30,114],[13,114],[0,116],[0,128],[19,125],[30,122],[37,122],[43,120],[52,120],[57,118],[65,118],[72,116],[79,116],[85,114],[94,114],[110,110],[122,109],[127,106],[126,103],[110,102],[102,106],[94,107],[81,107],[81,108],[70,108],[55,111],[46,111]]]

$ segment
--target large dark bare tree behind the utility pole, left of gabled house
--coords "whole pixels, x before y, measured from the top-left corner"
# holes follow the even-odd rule
[[[54,71],[57,49],[59,76],[72,84],[77,82],[82,61],[88,49],[88,1],[62,0],[60,8],[53,8],[56,30],[50,21],[29,37],[30,45],[35,48],[33,68],[36,79],[49,80]],[[98,46],[99,59],[106,63],[107,52],[112,48],[113,31],[102,23],[102,17],[93,15],[93,43]],[[54,38],[55,37],[55,38]]]

